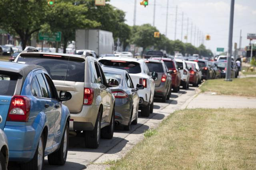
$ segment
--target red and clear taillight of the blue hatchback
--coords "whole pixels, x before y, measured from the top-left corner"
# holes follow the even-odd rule
[[[25,96],[13,96],[8,111],[7,121],[28,121],[30,100]]]

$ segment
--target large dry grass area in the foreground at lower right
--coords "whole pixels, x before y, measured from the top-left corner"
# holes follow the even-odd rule
[[[255,129],[254,109],[176,111],[110,169],[254,169]]]

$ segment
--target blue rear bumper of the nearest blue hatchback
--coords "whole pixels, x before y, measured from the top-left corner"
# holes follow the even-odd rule
[[[10,161],[28,162],[34,157],[42,127],[37,123],[25,124],[28,123],[6,122],[4,133],[8,139]]]

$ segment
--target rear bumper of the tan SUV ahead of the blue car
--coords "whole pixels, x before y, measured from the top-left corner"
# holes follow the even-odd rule
[[[74,131],[92,131],[98,116],[100,106],[84,105],[82,111],[70,113],[70,130]]]

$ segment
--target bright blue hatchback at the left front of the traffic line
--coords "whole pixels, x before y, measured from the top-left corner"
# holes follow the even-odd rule
[[[0,129],[7,136],[9,160],[21,169],[63,165],[68,152],[70,112],[61,102],[49,74],[41,66],[0,62]]]

